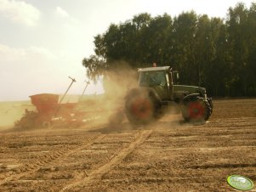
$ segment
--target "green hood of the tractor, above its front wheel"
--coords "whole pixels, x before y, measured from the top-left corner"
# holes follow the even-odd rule
[[[202,97],[204,97],[206,94],[206,89],[195,86],[174,85],[174,93],[183,93],[185,95],[199,93]]]

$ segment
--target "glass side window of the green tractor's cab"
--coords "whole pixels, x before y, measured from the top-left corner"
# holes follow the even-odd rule
[[[165,86],[165,71],[142,71],[139,73],[139,87]]]

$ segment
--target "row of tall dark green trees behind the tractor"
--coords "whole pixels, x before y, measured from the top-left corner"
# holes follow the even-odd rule
[[[215,97],[256,96],[256,3],[237,3],[225,19],[194,11],[172,18],[135,15],[94,37],[94,55],[82,60],[88,76],[118,71],[120,61],[132,69],[170,65],[183,84],[207,88]]]

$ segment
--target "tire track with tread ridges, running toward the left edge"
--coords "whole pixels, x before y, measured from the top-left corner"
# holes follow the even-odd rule
[[[76,153],[79,150],[82,150],[84,148],[88,148],[88,146],[94,144],[97,141],[100,141],[102,138],[105,138],[105,135],[100,136],[93,136],[92,138],[88,138],[86,142],[83,142],[83,144],[80,144],[80,146],[66,146],[64,149],[62,147],[61,150],[57,152],[53,152],[49,155],[45,155],[43,160],[34,161],[31,164],[25,164],[23,167],[18,170],[17,174],[13,174],[7,178],[4,178],[2,181],[0,181],[0,186],[8,183],[9,181],[18,180],[19,178],[25,177],[26,175],[29,175],[33,172],[37,172],[40,168],[45,167],[47,164],[52,163],[54,161],[60,160],[60,158],[63,158],[65,156],[71,155]],[[74,149],[75,148],[75,149]]]

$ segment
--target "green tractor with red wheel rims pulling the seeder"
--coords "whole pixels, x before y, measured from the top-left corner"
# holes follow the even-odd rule
[[[130,89],[125,100],[126,116],[134,125],[148,124],[170,109],[192,122],[205,122],[213,112],[206,89],[179,85],[179,72],[170,66],[139,69],[139,88]]]

